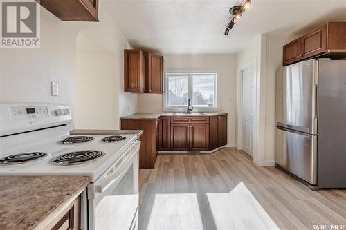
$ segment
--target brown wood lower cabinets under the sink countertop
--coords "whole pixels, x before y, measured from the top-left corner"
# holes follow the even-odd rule
[[[154,169],[157,151],[210,151],[227,144],[227,115],[121,119],[121,128],[144,131],[141,169]]]

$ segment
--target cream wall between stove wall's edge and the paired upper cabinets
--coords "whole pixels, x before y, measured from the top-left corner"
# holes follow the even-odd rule
[[[137,111],[137,95],[125,93],[123,84],[123,50],[131,46],[112,26],[78,33],[76,128],[118,129],[121,116]]]

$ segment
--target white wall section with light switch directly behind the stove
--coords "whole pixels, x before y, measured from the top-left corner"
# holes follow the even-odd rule
[[[41,48],[0,48],[0,100],[72,104],[77,32],[42,10]],[[51,97],[52,79],[60,83],[59,97]]]

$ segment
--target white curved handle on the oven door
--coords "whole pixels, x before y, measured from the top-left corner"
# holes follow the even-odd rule
[[[106,191],[109,186],[111,186],[113,183],[115,183],[117,180],[122,178],[123,175],[125,175],[126,171],[124,169],[127,169],[131,162],[133,161],[133,158],[137,155],[139,148],[140,148],[140,142],[137,141],[134,144],[135,149],[130,149],[132,153],[127,155],[127,157],[123,160],[122,164],[116,171],[111,175],[109,178],[104,178],[104,182],[102,181],[99,185],[95,185],[94,191],[95,193],[103,193]]]

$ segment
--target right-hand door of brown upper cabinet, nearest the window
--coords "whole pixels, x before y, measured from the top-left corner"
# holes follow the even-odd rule
[[[163,93],[163,56],[145,52],[145,93]]]

